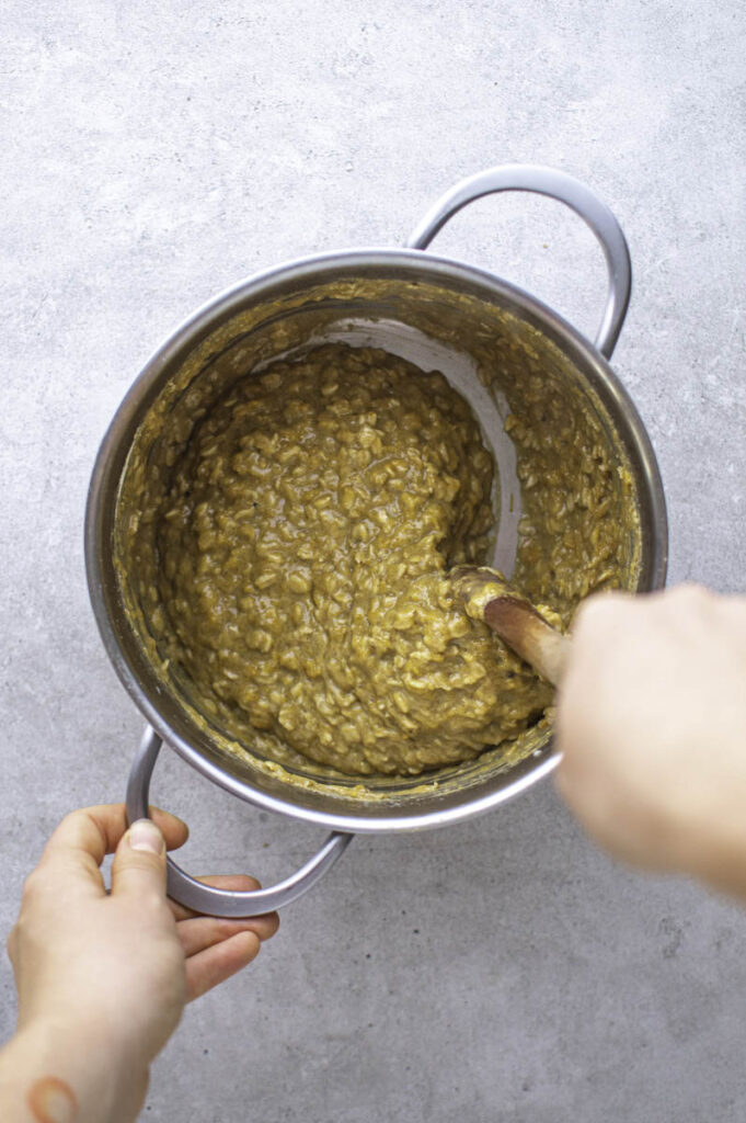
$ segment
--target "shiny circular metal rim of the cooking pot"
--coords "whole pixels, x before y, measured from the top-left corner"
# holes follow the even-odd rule
[[[653,446],[637,409],[607,359],[572,325],[525,290],[478,266],[434,255],[430,252],[424,253],[420,249],[352,248],[300,257],[254,274],[223,290],[201,305],[157,348],[118,407],[96,454],[85,510],[85,570],[99,633],[120,682],[150,725],[192,767],[231,794],[266,811],[291,815],[335,831],[354,833],[422,830],[461,822],[482,814],[526,791],[542,777],[549,775],[559,764],[560,756],[554,751],[550,741],[537,757],[528,757],[514,766],[509,773],[504,774],[515,774],[508,783],[503,783],[485,794],[476,794],[475,797],[466,798],[454,806],[435,807],[408,814],[394,812],[378,815],[357,815],[349,811],[347,813],[328,813],[317,807],[286,802],[270,793],[252,787],[247,780],[232,776],[206,759],[197,748],[176,733],[137,681],[118,642],[107,609],[100,514],[113,472],[112,460],[120,448],[122,435],[130,427],[151,384],[166,366],[177,360],[181,351],[184,351],[185,355],[187,350],[193,349],[205,336],[240,311],[252,298],[261,296],[264,299],[270,295],[275,285],[285,285],[288,281],[302,284],[311,280],[330,280],[329,274],[339,274],[341,271],[344,273],[352,273],[356,270],[390,268],[396,271],[405,267],[414,268],[423,274],[423,280],[427,279],[433,282],[439,280],[442,282],[444,279],[449,281],[461,280],[470,285],[482,286],[488,291],[486,295],[497,295],[501,307],[507,305],[509,310],[515,311],[523,319],[527,319],[547,335],[573,362],[583,360],[583,374],[591,375],[592,387],[600,394],[607,408],[610,405],[617,417],[625,419],[627,426],[625,436],[632,442],[641,476],[646,485],[644,500],[648,504],[655,531],[650,544],[652,557],[650,558],[651,579],[648,584],[651,590],[662,587],[665,583],[667,567],[669,531],[661,474]],[[320,273],[323,275],[320,276]],[[116,493],[118,493],[118,487]],[[478,792],[479,788],[475,787],[475,793]]]

